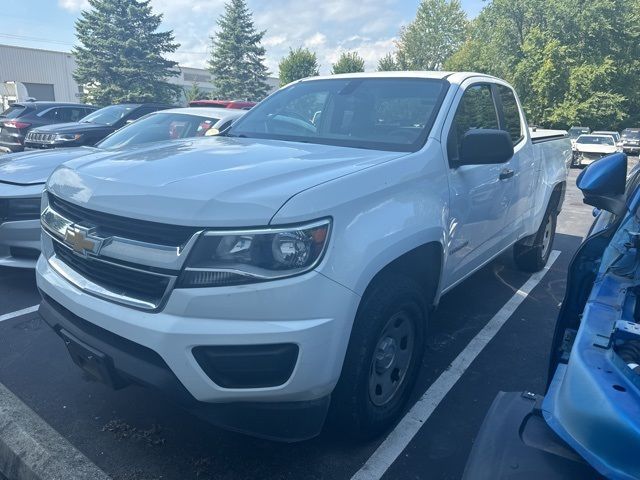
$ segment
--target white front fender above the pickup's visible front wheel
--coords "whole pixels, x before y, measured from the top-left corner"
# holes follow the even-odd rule
[[[449,190],[443,165],[439,145],[430,142],[420,152],[299,193],[271,223],[331,217],[333,231],[318,271],[362,295],[403,254],[430,242],[445,244]]]

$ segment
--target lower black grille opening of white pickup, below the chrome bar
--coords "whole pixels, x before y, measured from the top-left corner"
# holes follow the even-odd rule
[[[96,285],[118,295],[144,300],[155,305],[161,303],[171,281],[170,277],[164,275],[154,275],[150,272],[76,255],[55,240],[53,250],[62,262]]]

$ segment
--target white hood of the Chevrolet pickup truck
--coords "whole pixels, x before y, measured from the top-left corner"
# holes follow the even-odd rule
[[[249,138],[187,139],[79,158],[57,169],[47,188],[86,208],[131,218],[261,226],[293,195],[403,155]]]

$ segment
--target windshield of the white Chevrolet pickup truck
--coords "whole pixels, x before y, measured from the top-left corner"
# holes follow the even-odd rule
[[[447,86],[421,78],[304,81],[259,103],[227,135],[416,151],[429,135]]]

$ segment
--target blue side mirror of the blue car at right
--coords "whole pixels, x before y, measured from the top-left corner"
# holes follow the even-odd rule
[[[613,153],[592,163],[576,181],[584,195],[584,203],[617,216],[626,210],[626,183],[627,156],[624,153]]]

